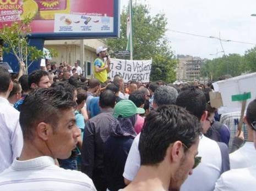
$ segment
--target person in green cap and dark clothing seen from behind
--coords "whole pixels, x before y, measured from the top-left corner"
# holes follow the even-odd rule
[[[110,123],[110,137],[104,146],[105,178],[110,191],[125,187],[122,174],[133,139],[137,136],[134,130],[136,114],[143,113],[143,108],[137,108],[127,99],[118,102],[114,108],[115,119]]]

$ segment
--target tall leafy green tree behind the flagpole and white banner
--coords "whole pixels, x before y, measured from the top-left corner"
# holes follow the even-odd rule
[[[167,19],[165,14],[151,16],[149,11],[148,5],[133,5],[133,59],[152,58],[151,80],[173,82],[176,80],[177,61],[173,59],[170,42],[165,38]],[[126,49],[127,14],[128,9],[123,9],[120,37],[106,40],[113,52]]]

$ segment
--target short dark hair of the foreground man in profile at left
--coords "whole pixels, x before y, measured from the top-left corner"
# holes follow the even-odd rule
[[[32,140],[35,127],[40,122],[57,128],[62,111],[75,108],[77,103],[70,92],[56,88],[39,88],[25,98],[20,109],[20,126],[23,137]]]

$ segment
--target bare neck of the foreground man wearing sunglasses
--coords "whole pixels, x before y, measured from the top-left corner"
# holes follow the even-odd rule
[[[141,166],[137,176],[125,190],[168,190],[170,181],[170,172],[163,166]]]

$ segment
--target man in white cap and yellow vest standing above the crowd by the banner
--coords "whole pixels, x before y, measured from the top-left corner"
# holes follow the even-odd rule
[[[94,77],[100,80],[101,83],[107,81],[107,73],[110,72],[110,58],[106,54],[107,48],[98,47],[96,49],[97,58],[94,61]],[[106,63],[104,58],[107,58]]]

